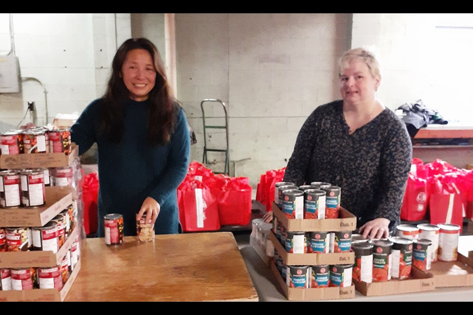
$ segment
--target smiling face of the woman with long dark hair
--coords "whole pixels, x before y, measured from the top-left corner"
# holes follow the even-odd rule
[[[130,98],[135,101],[148,99],[156,83],[156,69],[151,54],[145,49],[128,52],[122,65],[123,83],[130,91]]]

